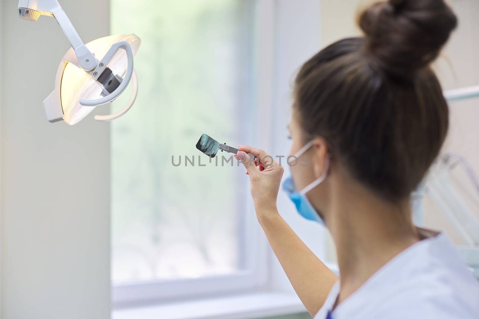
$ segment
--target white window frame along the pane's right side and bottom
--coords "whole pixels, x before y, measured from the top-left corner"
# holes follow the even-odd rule
[[[266,148],[271,145],[273,118],[264,116],[273,107],[274,77],[274,0],[253,0],[253,74],[257,81],[252,88],[252,102],[257,105],[259,116],[255,141]],[[249,185],[244,193],[249,194]],[[212,275],[200,278],[154,279],[112,283],[113,308],[130,307],[137,304],[182,300],[184,298],[218,296],[220,294],[255,291],[269,282],[267,269],[269,258],[267,240],[256,220],[251,200],[246,203],[240,241],[245,253],[243,264],[246,270],[233,274]]]

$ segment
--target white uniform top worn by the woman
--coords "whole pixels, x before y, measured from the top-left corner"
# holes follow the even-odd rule
[[[339,287],[314,319],[479,319],[479,282],[444,233],[399,253],[331,311]]]

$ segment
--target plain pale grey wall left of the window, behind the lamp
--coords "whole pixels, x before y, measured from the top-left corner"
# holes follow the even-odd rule
[[[109,34],[108,0],[60,2],[83,41]],[[1,318],[109,318],[109,125],[46,121],[69,44],[53,18],[0,4]]]

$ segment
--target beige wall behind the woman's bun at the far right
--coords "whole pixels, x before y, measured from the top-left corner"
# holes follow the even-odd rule
[[[442,56],[434,65],[443,88],[462,88],[479,85],[479,1],[451,0],[459,27],[446,45]],[[450,127],[443,152],[456,152],[466,157],[476,176],[479,176],[479,99],[469,99],[449,104]],[[457,175],[456,175],[457,176]],[[466,180],[464,180],[466,182]],[[473,191],[470,184],[465,184]],[[479,194],[475,195],[479,198]],[[445,214],[437,214],[437,206],[431,198],[424,202],[424,220],[428,227],[445,229],[457,243],[463,244],[458,232],[452,227]],[[479,211],[472,211],[479,219]]]

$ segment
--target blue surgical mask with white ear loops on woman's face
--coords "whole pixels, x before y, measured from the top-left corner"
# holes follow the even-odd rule
[[[308,142],[303,148],[301,148],[296,154],[296,158],[299,158],[304,152],[306,152],[311,146],[313,146],[313,141]],[[291,201],[295,204],[298,213],[308,220],[314,220],[319,222],[321,225],[326,226],[324,220],[316,209],[311,205],[306,193],[308,193],[314,187],[317,187],[328,175],[329,168],[329,157],[326,159],[326,165],[324,167],[323,174],[314,182],[309,184],[307,187],[303,188],[301,191],[296,191],[293,179],[288,177],[283,183],[283,190],[288,194]]]

